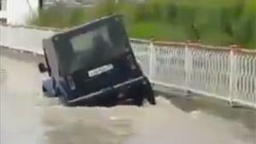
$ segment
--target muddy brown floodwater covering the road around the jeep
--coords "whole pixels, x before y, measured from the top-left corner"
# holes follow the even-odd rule
[[[1,51],[1,144],[256,143],[254,127],[183,111],[163,96],[157,106],[62,107],[41,94],[40,60]]]

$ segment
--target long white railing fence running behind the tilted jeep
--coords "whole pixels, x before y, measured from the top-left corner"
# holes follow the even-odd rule
[[[36,54],[52,29],[0,26],[0,45]],[[256,50],[131,39],[151,82],[256,107]]]

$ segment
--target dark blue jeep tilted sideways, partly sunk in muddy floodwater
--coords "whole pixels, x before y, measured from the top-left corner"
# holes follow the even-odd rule
[[[44,39],[39,63],[43,91],[67,106],[155,104],[154,92],[132,52],[122,16],[115,14]]]

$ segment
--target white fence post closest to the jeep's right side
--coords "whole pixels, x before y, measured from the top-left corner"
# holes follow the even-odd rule
[[[154,49],[154,42],[153,40],[150,40],[149,42],[149,79],[154,78],[154,70],[155,70],[155,49]]]

